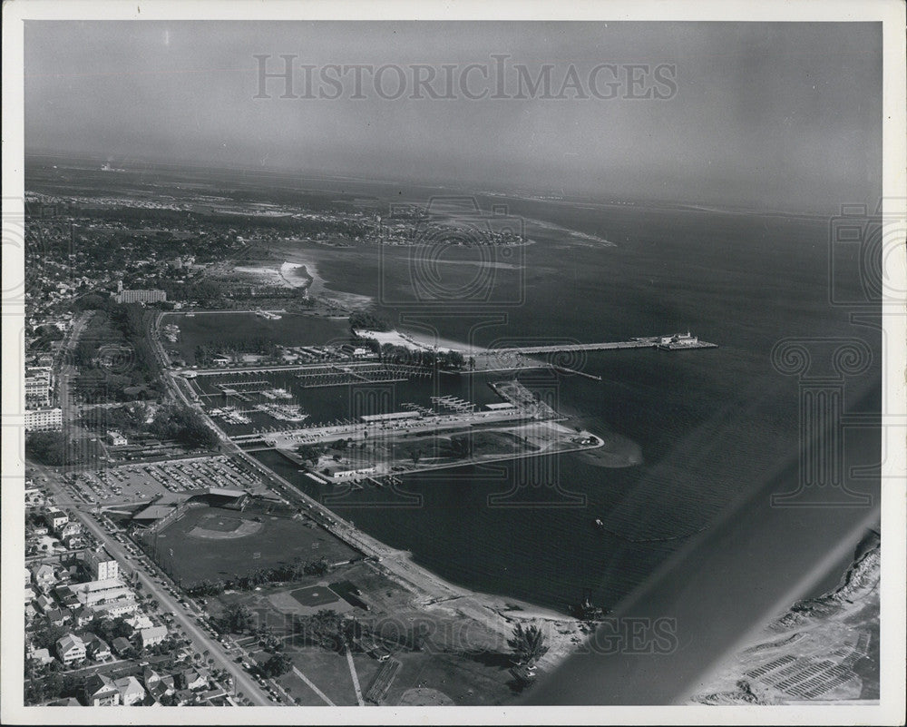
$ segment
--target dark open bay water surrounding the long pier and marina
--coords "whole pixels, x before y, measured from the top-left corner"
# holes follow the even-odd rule
[[[476,251],[445,253],[433,268],[424,264],[426,251],[414,258],[405,248],[304,249],[317,259],[329,288],[372,296],[375,308],[402,329],[502,346],[689,328],[720,348],[559,359],[601,381],[522,372],[527,386],[584,426],[639,447],[641,459],[632,467],[603,467],[594,457],[566,454],[406,476],[396,493],[332,493],[312,489],[314,483],[281,457],[261,455],[356,526],[411,551],[416,562],[455,583],[561,611],[586,592],[612,607],[679,547],[707,537],[734,503],[770,480],[783,491],[795,489],[799,389],[795,376],[773,367],[778,341],[862,340],[873,358],[863,373],[843,379],[844,407],[878,410],[880,334],[829,304],[833,292],[842,293],[834,286],[857,290],[853,276],[829,280],[827,220],[510,204],[512,214],[532,219],[533,244],[509,251],[506,260],[486,257],[494,265],[484,269],[463,264],[480,260]],[[565,239],[538,220],[614,245]],[[493,274],[477,279],[477,270]],[[432,279],[441,291],[437,300],[419,289],[432,274],[442,276]],[[445,291],[479,284],[487,290],[475,300],[444,298]],[[812,372],[827,373],[824,343],[806,345]],[[487,378],[445,376],[434,386],[481,403],[489,397]],[[425,382],[373,388],[373,396],[395,406],[434,390]],[[303,391],[299,401],[319,417],[344,416],[356,408],[350,402],[369,396],[356,389]],[[863,431],[848,442],[872,453],[877,437]],[[845,452],[848,464],[877,463],[864,461],[865,454],[860,461],[849,457]],[[868,478],[853,486],[878,485]],[[594,526],[595,518],[606,529]],[[820,516],[820,529],[821,522]]]

